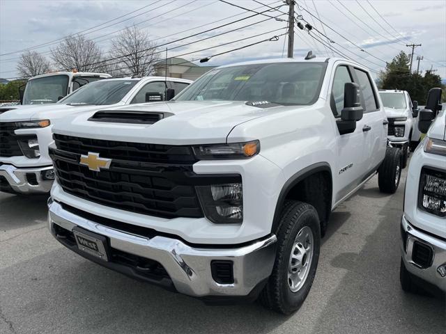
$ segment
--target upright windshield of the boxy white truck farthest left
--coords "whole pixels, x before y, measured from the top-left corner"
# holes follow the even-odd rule
[[[26,83],[23,104],[56,103],[60,96],[66,96],[68,75],[52,75],[31,79]]]

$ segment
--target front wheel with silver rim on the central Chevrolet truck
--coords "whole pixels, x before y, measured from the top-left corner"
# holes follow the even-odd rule
[[[300,308],[312,287],[321,248],[321,224],[312,205],[286,201],[277,232],[275,264],[259,300],[289,315]]]

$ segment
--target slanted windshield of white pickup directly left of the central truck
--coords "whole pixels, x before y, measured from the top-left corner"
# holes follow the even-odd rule
[[[138,80],[101,80],[79,88],[61,100],[61,104],[83,106],[86,104],[115,104],[137,84]]]

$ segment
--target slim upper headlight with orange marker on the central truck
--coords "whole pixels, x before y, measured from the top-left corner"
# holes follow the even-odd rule
[[[196,145],[192,149],[200,160],[249,159],[260,152],[260,142]]]

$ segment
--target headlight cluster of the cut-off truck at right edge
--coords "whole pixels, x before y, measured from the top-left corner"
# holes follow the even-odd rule
[[[446,173],[422,168],[418,206],[440,217],[446,216]]]

